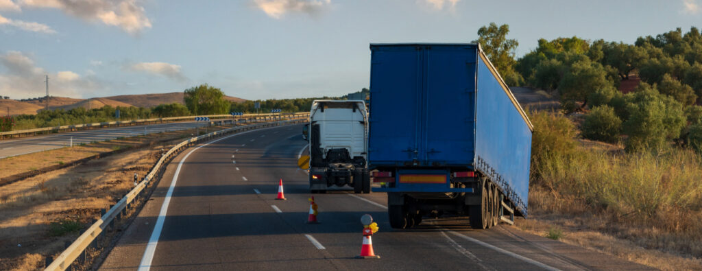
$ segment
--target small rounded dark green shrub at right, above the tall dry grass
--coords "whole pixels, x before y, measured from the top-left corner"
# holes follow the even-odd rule
[[[621,133],[621,119],[607,105],[592,109],[583,122],[583,138],[615,143]]]

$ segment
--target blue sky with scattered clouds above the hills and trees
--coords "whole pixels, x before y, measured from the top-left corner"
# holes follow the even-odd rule
[[[343,95],[369,85],[371,43],[470,42],[510,25],[537,40],[633,43],[702,28],[702,0],[0,0],[0,95],[91,98],[199,84],[245,99]]]

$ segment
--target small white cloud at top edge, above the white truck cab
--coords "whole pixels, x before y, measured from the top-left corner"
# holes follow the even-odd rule
[[[254,0],[253,4],[268,16],[279,19],[289,12],[316,15],[329,7],[331,0]]]

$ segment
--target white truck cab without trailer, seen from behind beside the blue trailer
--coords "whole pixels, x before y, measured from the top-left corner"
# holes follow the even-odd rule
[[[368,116],[362,100],[314,100],[310,112],[310,191],[349,185],[371,192]]]

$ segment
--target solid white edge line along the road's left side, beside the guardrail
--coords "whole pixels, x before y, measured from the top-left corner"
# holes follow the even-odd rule
[[[151,269],[151,263],[154,260],[154,253],[156,252],[156,246],[159,244],[159,237],[161,237],[161,230],[164,228],[164,220],[166,220],[166,213],[168,213],[168,204],[171,203],[171,196],[173,195],[173,189],[176,187],[176,182],[178,181],[178,174],[180,174],[180,168],[183,167],[183,163],[187,159],[187,157],[192,154],[192,152],[198,150],[201,147],[205,147],[206,145],[210,145],[212,143],[217,143],[222,140],[225,140],[227,138],[232,138],[237,135],[243,135],[245,133],[251,133],[255,131],[261,131],[261,130],[267,130],[267,129],[272,129],[272,128],[277,128],[277,127],[271,127],[271,128],[263,128],[263,129],[256,129],[256,130],[251,130],[251,131],[245,131],[241,133],[234,133],[233,135],[226,136],[224,138],[220,138],[218,140],[214,140],[208,143],[205,143],[201,146],[198,146],[185,154],[185,157],[183,157],[182,160],[178,163],[178,168],[176,168],[176,173],[173,174],[173,180],[171,180],[171,186],[168,187],[168,192],[166,192],[166,197],[164,198],[164,203],[161,204],[161,211],[159,211],[159,218],[156,220],[156,225],[154,225],[154,231],[151,233],[151,237],[149,238],[149,243],[146,245],[146,249],[144,251],[144,256],[141,258],[141,262],[139,263],[139,271],[148,271]],[[277,208],[277,207],[276,207]]]

